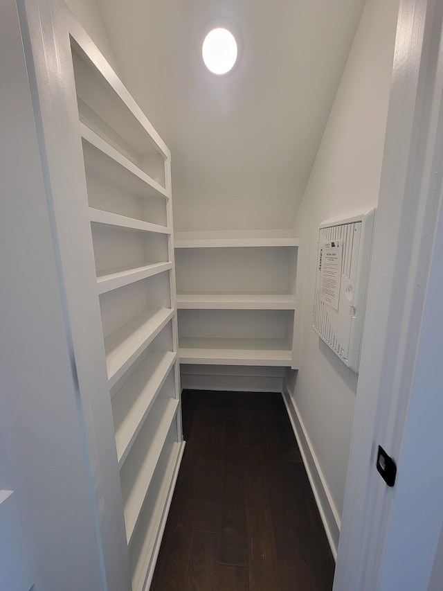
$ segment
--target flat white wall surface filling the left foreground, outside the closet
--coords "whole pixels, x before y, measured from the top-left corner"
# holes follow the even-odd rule
[[[1,4],[0,78],[0,488],[15,491],[33,589],[100,591],[91,467],[15,0]],[[1,529],[9,551],[15,533]],[[15,589],[17,579],[3,580],[2,591]]]

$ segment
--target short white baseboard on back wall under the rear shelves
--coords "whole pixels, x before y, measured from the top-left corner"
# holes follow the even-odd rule
[[[233,392],[281,392],[283,378],[273,376],[198,376],[181,374],[181,389]]]

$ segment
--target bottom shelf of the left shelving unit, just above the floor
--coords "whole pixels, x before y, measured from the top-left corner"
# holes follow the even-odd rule
[[[168,436],[129,547],[133,591],[150,588],[185,443]]]

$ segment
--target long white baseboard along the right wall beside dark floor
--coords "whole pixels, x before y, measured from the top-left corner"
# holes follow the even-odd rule
[[[282,392],[284,404],[286,405],[289,419],[292,424],[293,432],[296,436],[298,447],[302,455],[303,463],[305,464],[307,476],[311,484],[312,492],[320,512],[320,517],[325,528],[327,540],[331,547],[334,560],[337,557],[338,537],[340,536],[341,520],[338,511],[332,501],[331,493],[323,476],[322,470],[318,464],[318,460],[314,449],[309,441],[305,425],[298,412],[296,403],[291,398],[287,387],[284,387]]]

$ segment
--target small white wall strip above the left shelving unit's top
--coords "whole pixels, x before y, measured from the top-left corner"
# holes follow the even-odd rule
[[[116,73],[119,74],[120,69],[114,55],[114,49],[109,40],[96,0],[64,0],[64,2],[69,6],[75,18],[82,24],[84,30],[86,30],[102,54],[105,55]]]

